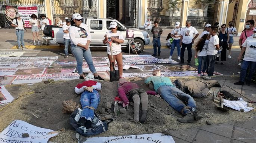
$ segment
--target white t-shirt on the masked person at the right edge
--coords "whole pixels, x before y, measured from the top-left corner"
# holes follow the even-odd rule
[[[244,61],[256,62],[256,38],[248,37],[242,46],[246,47]]]

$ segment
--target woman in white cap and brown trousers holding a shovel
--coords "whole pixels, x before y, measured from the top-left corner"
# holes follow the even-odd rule
[[[123,75],[123,55],[121,50],[121,43],[124,42],[124,37],[120,31],[117,31],[117,23],[110,23],[111,31],[107,32],[104,36],[103,43],[107,44],[107,54],[110,60],[110,71],[114,71],[112,61],[117,61],[119,77]],[[111,49],[112,48],[112,53]],[[113,55],[113,59],[112,56]]]

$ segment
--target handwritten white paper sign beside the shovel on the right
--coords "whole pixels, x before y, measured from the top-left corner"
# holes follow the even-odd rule
[[[242,98],[240,98],[240,101],[230,101],[223,99],[223,105],[226,107],[232,108],[234,110],[240,111],[241,109],[244,110],[244,112],[249,112],[253,110],[253,107],[247,107],[247,102],[244,101]]]

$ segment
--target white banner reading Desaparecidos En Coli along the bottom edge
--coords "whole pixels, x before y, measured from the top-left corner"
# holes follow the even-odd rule
[[[89,137],[83,143],[175,143],[175,141],[172,136],[157,133],[118,137]]]

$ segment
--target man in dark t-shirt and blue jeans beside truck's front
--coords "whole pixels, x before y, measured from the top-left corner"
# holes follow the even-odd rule
[[[154,21],[154,27],[152,27],[152,34],[153,34],[153,49],[154,53],[152,56],[157,55],[157,48],[158,48],[158,56],[161,56],[161,40],[160,40],[160,35],[163,33],[163,29],[158,26],[158,21]]]

